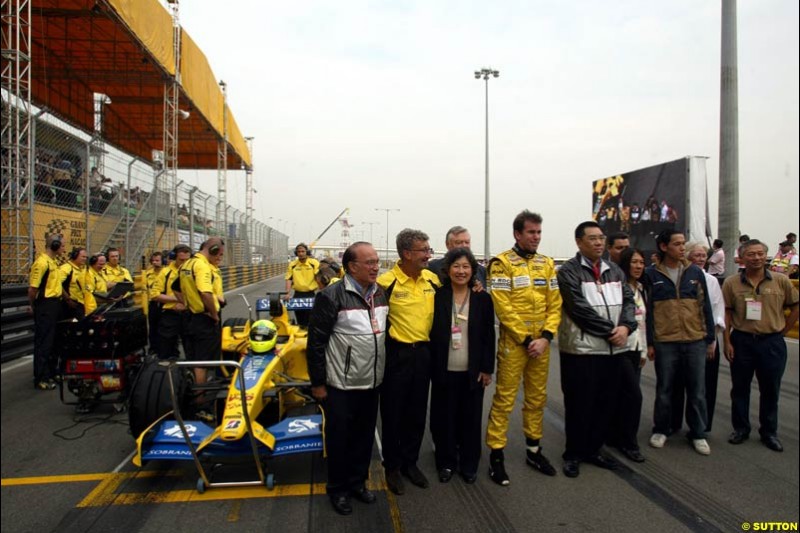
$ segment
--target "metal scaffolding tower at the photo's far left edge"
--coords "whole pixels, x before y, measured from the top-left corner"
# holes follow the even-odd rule
[[[30,177],[34,158],[31,143],[31,4],[3,0],[2,6],[2,239],[10,254],[6,266],[13,272],[28,269],[33,254],[33,232],[28,226],[33,208]],[[23,212],[25,215],[23,216]],[[9,257],[10,255],[10,257]],[[8,265],[7,263],[8,262]]]

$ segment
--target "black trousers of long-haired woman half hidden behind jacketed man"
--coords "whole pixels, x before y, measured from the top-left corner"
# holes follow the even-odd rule
[[[639,352],[621,354],[619,389],[611,409],[611,425],[606,441],[611,446],[638,450],[639,421],[642,415],[642,368]]]

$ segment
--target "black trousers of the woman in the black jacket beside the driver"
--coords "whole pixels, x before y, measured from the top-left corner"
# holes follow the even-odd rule
[[[431,435],[436,469],[478,471],[481,459],[483,387],[471,383],[469,372],[447,372],[444,382],[431,384]]]

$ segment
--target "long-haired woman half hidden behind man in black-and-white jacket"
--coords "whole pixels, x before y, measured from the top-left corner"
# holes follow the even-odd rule
[[[642,415],[642,368],[647,362],[647,299],[648,292],[642,284],[644,279],[644,254],[640,250],[627,248],[622,251],[617,263],[628,280],[636,305],[636,331],[629,337],[630,352],[623,354],[622,372],[615,407],[612,409],[611,426],[606,443],[619,448],[631,461],[643,463],[637,434]]]

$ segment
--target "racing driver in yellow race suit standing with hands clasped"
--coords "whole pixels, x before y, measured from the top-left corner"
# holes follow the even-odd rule
[[[541,237],[541,215],[525,210],[514,219],[514,247],[489,263],[489,286],[500,321],[500,339],[497,389],[489,412],[486,444],[491,450],[489,473],[499,485],[509,484],[503,448],[520,380],[524,386],[522,430],[526,461],[543,474],[556,475],[542,454],[539,440],[547,400],[550,342],[561,322],[561,293],[555,263],[537,253]]]

